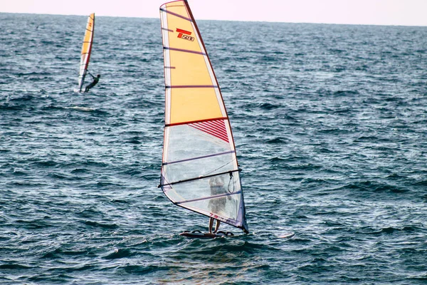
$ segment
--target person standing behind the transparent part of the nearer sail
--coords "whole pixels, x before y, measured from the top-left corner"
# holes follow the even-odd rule
[[[209,185],[211,186],[211,196],[221,195],[227,192],[226,189],[224,188],[223,177],[221,176],[212,177],[209,180]],[[208,207],[209,209],[211,209],[211,212],[218,213],[220,211],[224,211],[226,209],[227,198],[231,199],[231,197],[229,196],[227,197],[223,196],[223,197],[211,199],[208,204]],[[218,232],[219,225],[221,224],[221,222],[218,219],[215,219],[215,220],[216,220],[216,224],[215,224],[214,234]],[[213,226],[214,226],[214,218],[209,217],[209,234],[212,233]]]

